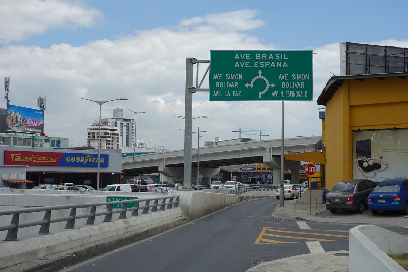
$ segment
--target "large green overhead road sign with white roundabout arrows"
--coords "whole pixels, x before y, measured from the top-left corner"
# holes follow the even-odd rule
[[[210,52],[209,100],[312,101],[313,50]]]

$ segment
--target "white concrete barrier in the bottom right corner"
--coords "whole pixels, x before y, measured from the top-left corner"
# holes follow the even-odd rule
[[[387,254],[408,253],[408,238],[378,226],[360,225],[349,233],[350,272],[406,272]]]

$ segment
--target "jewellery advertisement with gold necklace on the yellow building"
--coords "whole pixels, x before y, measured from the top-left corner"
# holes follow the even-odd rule
[[[408,178],[408,129],[353,132],[353,178]]]

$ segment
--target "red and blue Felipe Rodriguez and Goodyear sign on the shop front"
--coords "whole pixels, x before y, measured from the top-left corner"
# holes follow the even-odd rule
[[[4,151],[4,165],[97,167],[97,154]],[[100,155],[100,167],[109,166],[109,155]]]

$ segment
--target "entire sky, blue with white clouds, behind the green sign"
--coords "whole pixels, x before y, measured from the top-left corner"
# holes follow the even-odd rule
[[[321,136],[316,100],[340,75],[341,41],[408,47],[408,1],[1,0],[0,75],[10,104],[38,109],[44,132],[86,145],[87,128],[123,108],[148,147],[184,148],[186,58],[211,50],[313,50],[313,101],[284,103],[284,136]],[[205,71],[200,64],[199,80]],[[194,72],[194,82],[195,72]],[[195,84],[195,83],[194,83]],[[203,88],[208,88],[208,75]],[[0,102],[1,103],[1,102]],[[6,100],[0,108],[6,108]],[[281,138],[281,102],[209,101],[193,94],[204,141]],[[197,146],[198,135],[192,137]]]

